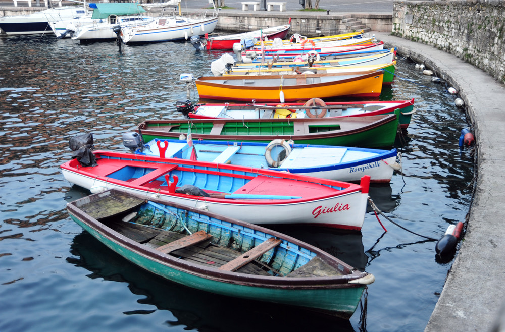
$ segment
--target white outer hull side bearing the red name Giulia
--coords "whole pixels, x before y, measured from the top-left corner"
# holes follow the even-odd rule
[[[166,194],[115,184],[105,179],[91,178],[78,171],[62,169],[67,181],[92,192],[119,188],[147,197],[157,197],[170,202],[185,204],[196,208],[207,208],[211,212],[227,215],[251,224],[311,224],[325,227],[359,230],[363,226],[368,202],[368,194],[349,193],[318,201],[280,204],[232,204],[199,199],[180,198]]]

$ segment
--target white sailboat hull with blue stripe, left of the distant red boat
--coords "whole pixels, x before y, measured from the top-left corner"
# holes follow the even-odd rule
[[[189,39],[192,36],[212,33],[216,28],[217,22],[217,17],[199,20],[188,20],[182,17],[179,19],[157,18],[155,22],[141,27],[123,28],[122,39],[125,43]]]

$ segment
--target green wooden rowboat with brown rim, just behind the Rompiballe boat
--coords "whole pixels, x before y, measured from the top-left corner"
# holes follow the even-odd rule
[[[398,112],[398,111],[395,111]],[[137,127],[144,142],[179,139],[270,142],[381,148],[394,143],[397,114],[357,118],[147,120]]]

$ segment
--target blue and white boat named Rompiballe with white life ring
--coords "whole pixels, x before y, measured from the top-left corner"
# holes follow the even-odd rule
[[[123,135],[125,146],[137,154],[196,158],[345,182],[369,175],[372,183],[389,183],[394,170],[399,169],[396,149],[292,144],[279,139],[270,143],[198,140],[190,143],[193,151],[185,140],[154,139],[145,145],[139,140],[137,133]]]

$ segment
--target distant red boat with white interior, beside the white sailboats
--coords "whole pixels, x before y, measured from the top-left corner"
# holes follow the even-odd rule
[[[205,39],[199,41],[198,43],[192,43],[196,49],[233,49],[233,44],[240,43],[242,39],[258,39],[260,37],[268,38],[269,40],[274,38],[286,39],[286,36],[291,28],[291,18],[286,25],[279,25],[277,27],[261,29],[257,31],[237,33],[233,35],[216,36],[209,37],[208,34],[205,35]]]

